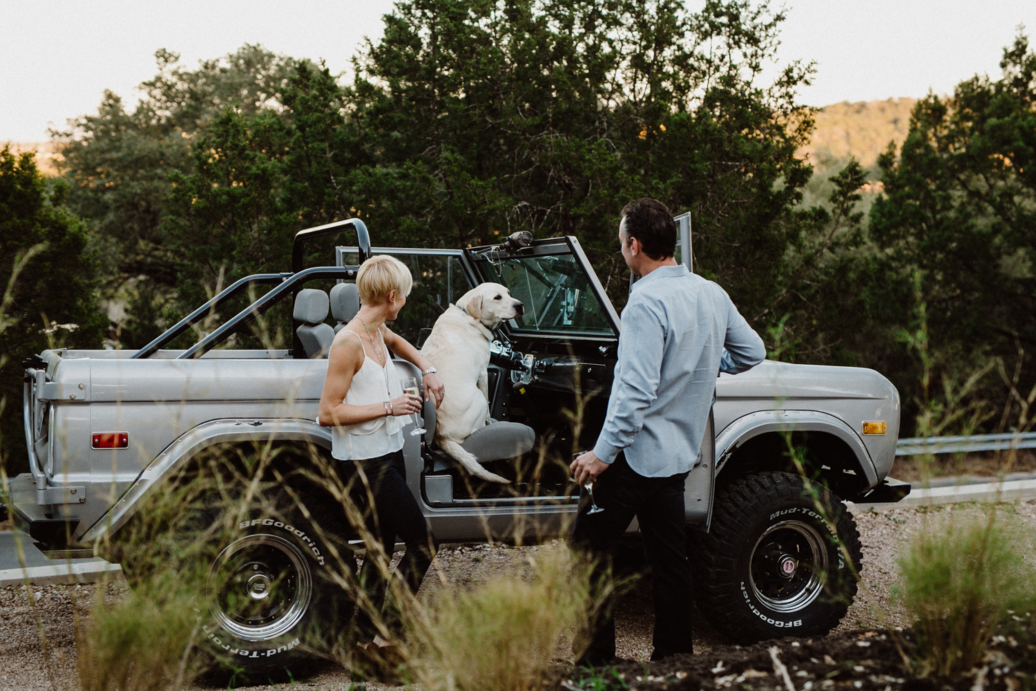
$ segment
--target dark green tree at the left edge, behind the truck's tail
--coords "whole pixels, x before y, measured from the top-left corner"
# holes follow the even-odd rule
[[[62,206],[67,185],[44,177],[34,155],[0,149],[0,285],[6,289],[0,448],[8,474],[28,470],[22,359],[47,348],[100,347],[108,321],[97,309],[98,262],[86,226]]]

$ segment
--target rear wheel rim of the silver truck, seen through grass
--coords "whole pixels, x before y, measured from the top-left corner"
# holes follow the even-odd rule
[[[309,562],[274,535],[250,535],[228,545],[208,574],[217,623],[244,640],[270,640],[293,629],[313,596]]]

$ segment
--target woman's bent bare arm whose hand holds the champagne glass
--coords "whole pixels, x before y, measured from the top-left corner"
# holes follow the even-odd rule
[[[387,405],[346,405],[342,401],[349,393],[352,377],[364,366],[364,347],[355,339],[346,337],[332,345],[327,355],[327,376],[320,394],[319,420],[321,427],[337,425],[358,425],[387,414],[407,415],[416,412],[421,405],[404,394]]]

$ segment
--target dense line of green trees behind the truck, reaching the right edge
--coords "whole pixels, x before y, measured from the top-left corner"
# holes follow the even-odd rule
[[[1019,36],[1002,79],[919,102],[864,223],[855,163],[801,204],[812,66],[760,78],[782,20],[747,0],[404,0],[349,80],[256,46],[196,69],[159,51],[133,112],[107,93],[54,133],[98,294],[125,304],[108,342],[140,347],[221,285],[288,270],[297,230],[353,215],[375,244],[576,235],[621,306],[617,213],[650,195],[691,212],[696,270],[772,357],[877,369],[912,433],[939,396],[922,374],[962,381],[998,356],[1011,373],[1036,350],[1036,58]],[[961,405],[1003,403],[996,369]]]

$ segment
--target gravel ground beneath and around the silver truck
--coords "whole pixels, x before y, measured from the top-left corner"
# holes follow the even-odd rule
[[[856,602],[836,632],[859,628],[905,626],[904,612],[890,601],[890,588],[896,580],[895,558],[899,546],[918,528],[923,528],[924,510],[895,510],[856,516],[863,542],[863,572]],[[970,508],[968,511],[980,511]],[[1036,528],[1036,501],[1014,505],[1014,511]],[[494,575],[507,572],[540,549],[553,546],[506,547],[502,545],[454,546],[440,550],[437,563],[422,586],[422,595],[434,598],[443,582],[472,586]],[[47,585],[31,588],[30,599],[24,586],[0,589],[0,691],[78,690],[76,671],[76,626],[88,616],[92,599],[104,593],[109,602],[125,597],[124,584]],[[639,585],[624,595],[616,611],[617,646],[621,657],[643,661],[651,655],[654,621],[650,587]],[[41,627],[37,622],[41,622]],[[695,650],[709,653],[729,641],[708,622],[695,616]],[[44,633],[46,646],[40,643]],[[46,654],[45,654],[46,647]],[[348,672],[327,666],[300,686],[318,689],[349,687]],[[199,682],[198,691],[220,688]],[[254,687],[274,691],[275,687]],[[384,688],[368,685],[372,691]]]

